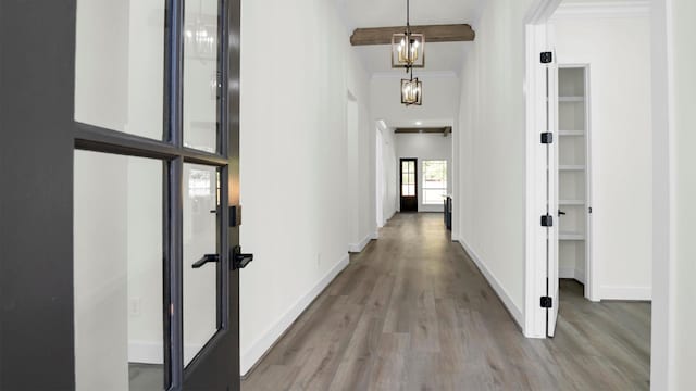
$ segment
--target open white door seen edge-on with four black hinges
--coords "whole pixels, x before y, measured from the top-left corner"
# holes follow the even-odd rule
[[[549,28],[549,43],[552,31]],[[551,43],[552,46],[552,43]],[[546,67],[546,216],[542,225],[546,226],[546,298],[542,306],[546,307],[546,335],[554,337],[558,320],[558,63],[556,52],[547,52],[543,59]],[[545,220],[545,222],[544,222]]]

